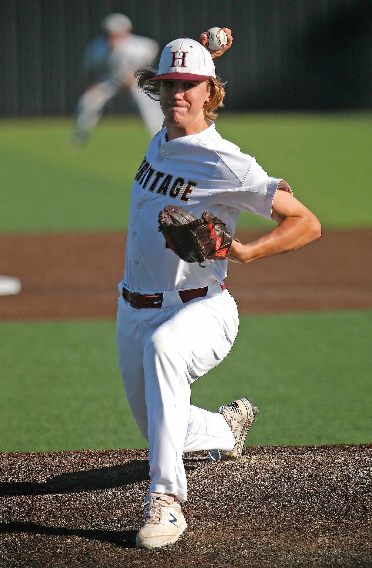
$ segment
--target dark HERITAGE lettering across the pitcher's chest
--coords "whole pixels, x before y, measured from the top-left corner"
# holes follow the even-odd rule
[[[185,181],[182,177],[155,170],[146,158],[143,158],[134,179],[143,189],[147,189],[151,193],[169,195],[169,197],[178,198],[185,203],[190,201],[190,196],[197,186],[197,182],[191,179]]]

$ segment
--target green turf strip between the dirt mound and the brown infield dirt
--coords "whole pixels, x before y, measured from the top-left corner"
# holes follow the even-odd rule
[[[251,445],[370,442],[372,312],[242,317],[232,352],[193,385],[216,410],[259,406]],[[117,368],[114,321],[1,325],[0,451],[146,447]]]

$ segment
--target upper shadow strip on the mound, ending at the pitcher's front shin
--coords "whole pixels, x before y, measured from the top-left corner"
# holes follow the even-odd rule
[[[98,467],[56,475],[44,483],[0,483],[0,497],[9,495],[56,495],[111,489],[148,479],[148,461],[133,460],[122,465]]]

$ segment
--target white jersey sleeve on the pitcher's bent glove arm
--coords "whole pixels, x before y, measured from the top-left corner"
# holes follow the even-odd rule
[[[222,205],[271,219],[276,190],[283,189],[292,194],[291,187],[284,179],[268,176],[255,158],[246,158],[249,158],[248,171],[232,169],[225,162],[218,165],[211,195]]]

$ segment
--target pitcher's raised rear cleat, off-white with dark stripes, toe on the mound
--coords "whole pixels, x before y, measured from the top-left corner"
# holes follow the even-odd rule
[[[235,438],[235,445],[231,452],[212,450],[212,452],[210,452],[210,454],[212,454],[210,458],[212,458],[212,460],[214,459],[214,461],[219,461],[216,459],[216,457],[218,457],[216,452],[218,452],[221,460],[235,460],[242,455],[245,437],[251,425],[256,421],[258,408],[253,406],[252,399],[239,398],[230,404],[220,406],[217,412],[220,412],[222,416],[224,416],[231,428]]]

